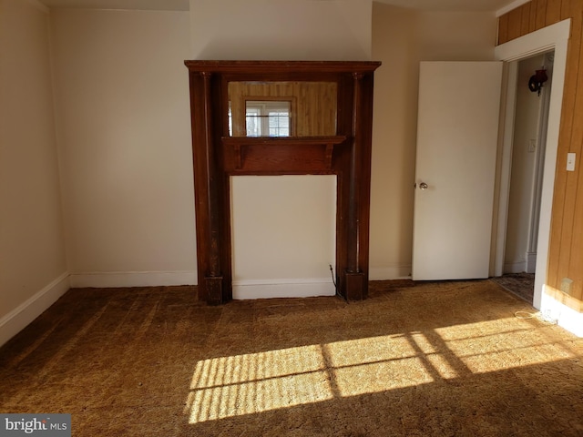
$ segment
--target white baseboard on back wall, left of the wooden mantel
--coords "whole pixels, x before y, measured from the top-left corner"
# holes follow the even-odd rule
[[[196,285],[197,271],[114,271],[72,273],[71,288],[164,287]]]

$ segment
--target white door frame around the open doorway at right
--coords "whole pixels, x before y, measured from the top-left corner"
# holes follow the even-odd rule
[[[517,62],[529,56],[555,51],[553,65],[553,86],[550,93],[547,124],[547,148],[544,157],[544,174],[540,200],[538,223],[537,265],[535,271],[535,290],[533,306],[540,310],[542,295],[547,284],[548,245],[552,217],[553,192],[557,168],[558,133],[565,86],[567,67],[568,37],[571,19],[548,25],[536,32],[521,36],[495,48],[495,58],[505,62],[506,103],[502,107],[501,137],[499,153],[499,175],[497,177],[498,196],[493,235],[493,276],[502,274],[506,247],[506,218],[508,213],[508,194],[510,190],[510,168],[514,137],[514,114],[516,107]]]

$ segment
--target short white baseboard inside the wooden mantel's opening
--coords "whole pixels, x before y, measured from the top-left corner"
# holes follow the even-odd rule
[[[334,296],[332,278],[326,279],[256,279],[233,281],[234,300],[271,298],[312,298]]]

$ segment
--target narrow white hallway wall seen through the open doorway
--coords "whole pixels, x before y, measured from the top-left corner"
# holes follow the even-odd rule
[[[512,169],[506,228],[505,273],[527,271],[527,249],[535,193],[536,148],[542,95],[528,89],[528,79],[544,64],[544,55],[533,56],[518,63],[517,107],[512,147]],[[529,150],[529,142],[536,143]]]

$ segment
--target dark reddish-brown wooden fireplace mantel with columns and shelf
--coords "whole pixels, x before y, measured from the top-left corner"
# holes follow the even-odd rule
[[[189,68],[199,299],[232,299],[230,183],[237,175],[336,175],[336,283],[368,294],[373,72],[380,62],[185,61]],[[229,84],[333,83],[335,132],[230,135]],[[272,97],[270,97],[272,98]]]

